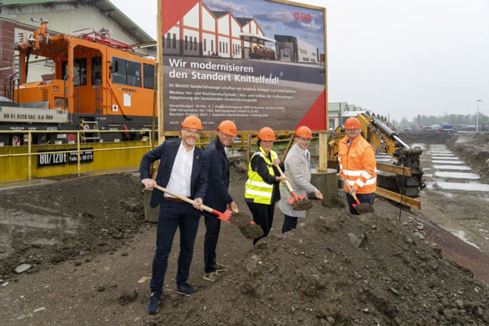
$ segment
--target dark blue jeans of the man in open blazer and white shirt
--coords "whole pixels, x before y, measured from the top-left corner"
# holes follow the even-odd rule
[[[153,259],[151,291],[162,293],[168,256],[173,238],[180,229],[180,253],[178,254],[177,286],[187,282],[194,254],[194,242],[199,228],[200,211],[185,202],[162,200],[156,228],[156,250]]]

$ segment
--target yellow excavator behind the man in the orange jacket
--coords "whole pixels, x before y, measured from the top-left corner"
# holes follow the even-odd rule
[[[395,159],[394,164],[377,163],[377,191],[379,196],[386,197],[410,208],[421,209],[421,202],[417,199],[420,191],[426,187],[422,180],[423,171],[420,166],[422,149],[412,148],[403,142],[399,135],[391,130],[375,114],[360,113],[362,136],[376,149]],[[340,140],[346,135],[343,126],[339,126],[329,136],[328,165],[337,168],[337,155]]]

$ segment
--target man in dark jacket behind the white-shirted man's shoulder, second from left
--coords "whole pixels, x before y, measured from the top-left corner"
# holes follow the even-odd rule
[[[216,140],[205,148],[205,155],[209,160],[209,185],[205,194],[204,205],[223,213],[227,205],[234,211],[238,209],[231,195],[229,195],[229,161],[227,160],[227,147],[237,135],[236,125],[230,120],[219,124]],[[216,246],[221,230],[221,220],[215,215],[204,212],[205,239],[204,239],[204,280],[214,282],[219,278],[219,272],[225,271],[226,266],[216,262]]]

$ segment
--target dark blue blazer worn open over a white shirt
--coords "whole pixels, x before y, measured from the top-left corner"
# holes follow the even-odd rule
[[[172,173],[173,163],[175,157],[177,157],[178,148],[180,147],[181,140],[165,140],[163,144],[156,147],[153,151],[144,154],[139,166],[139,173],[141,180],[151,178],[151,163],[156,160],[160,160],[158,167],[158,174],[156,174],[156,183],[158,186],[166,188],[168,181],[170,181],[170,174]],[[207,158],[204,155],[204,151],[199,147],[194,149],[194,160],[192,163],[192,175],[190,177],[190,198],[205,198],[205,192],[207,191],[207,176],[209,170],[209,164]],[[161,202],[163,192],[158,189],[153,189],[151,195],[150,205],[156,207]]]

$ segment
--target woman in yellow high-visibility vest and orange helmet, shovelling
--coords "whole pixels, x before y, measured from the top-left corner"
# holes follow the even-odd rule
[[[263,237],[253,239],[255,244],[259,239],[268,235],[272,227],[275,202],[280,199],[279,184],[287,180],[281,177],[274,164],[279,164],[284,170],[284,164],[272,151],[275,133],[269,127],[258,131],[258,150],[248,164],[248,180],[244,188],[244,201],[253,216],[253,221],[262,227]]]

